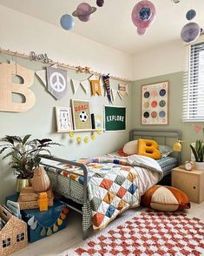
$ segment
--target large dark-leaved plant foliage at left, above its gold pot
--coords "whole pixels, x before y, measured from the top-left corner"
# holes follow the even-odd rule
[[[60,145],[50,138],[30,140],[30,136],[27,134],[21,138],[6,135],[0,139],[0,142],[6,143],[0,145],[0,154],[6,152],[3,159],[11,158],[10,165],[18,179],[32,179],[35,168],[40,165],[41,157],[51,157],[50,145]]]

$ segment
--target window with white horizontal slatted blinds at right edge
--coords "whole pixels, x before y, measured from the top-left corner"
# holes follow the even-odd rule
[[[189,46],[183,88],[183,121],[204,122],[204,42]]]

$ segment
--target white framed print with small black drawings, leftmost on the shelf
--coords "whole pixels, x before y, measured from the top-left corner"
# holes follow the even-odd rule
[[[70,107],[56,107],[56,129],[58,132],[73,130]]]

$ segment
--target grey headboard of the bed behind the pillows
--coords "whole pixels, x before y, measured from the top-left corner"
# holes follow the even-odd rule
[[[130,131],[129,140],[138,138],[154,139],[159,145],[168,145],[173,147],[177,138],[181,139],[180,130],[150,130],[150,129],[133,129]],[[181,163],[181,153],[174,152],[174,157],[178,158],[178,163]]]

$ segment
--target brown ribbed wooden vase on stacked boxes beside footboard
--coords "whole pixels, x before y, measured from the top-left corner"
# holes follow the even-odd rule
[[[50,181],[43,167],[36,167],[32,186],[35,192],[46,192],[49,190]]]

